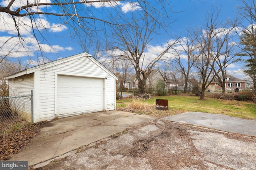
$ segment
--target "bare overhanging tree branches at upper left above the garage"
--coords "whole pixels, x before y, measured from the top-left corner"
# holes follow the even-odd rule
[[[122,3],[122,4],[121,4]],[[6,42],[0,46],[1,56],[22,57],[29,59],[36,51],[36,57],[45,57],[44,49],[50,46],[52,52],[58,49],[48,41],[45,33],[52,29],[68,29],[68,35],[80,42],[82,51],[101,56],[105,49],[104,39],[107,26],[120,24],[118,20],[127,11],[147,11],[149,15],[157,12],[154,3],[168,8],[168,2],[162,0],[6,0],[0,2],[0,21],[12,34],[6,36]],[[147,10],[145,9],[147,7]],[[100,15],[99,15],[100,14]],[[166,13],[167,14],[167,13]],[[126,20],[127,24],[130,22]],[[30,34],[30,35],[28,35]],[[104,39],[104,41],[102,41]],[[13,49],[10,46],[14,47]],[[3,50],[8,49],[8,50]],[[17,51],[22,56],[17,56]],[[96,58],[97,58],[96,57]],[[97,58],[98,59],[98,58]]]

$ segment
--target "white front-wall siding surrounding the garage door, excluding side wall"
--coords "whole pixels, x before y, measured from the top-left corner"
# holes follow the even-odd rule
[[[114,110],[116,107],[115,79],[87,57],[81,57],[67,63],[46,68],[40,71],[40,121],[55,117],[56,75],[107,78],[105,86],[105,108]]]

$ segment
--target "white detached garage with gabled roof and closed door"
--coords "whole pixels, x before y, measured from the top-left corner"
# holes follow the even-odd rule
[[[33,121],[116,109],[117,77],[88,53],[52,61],[9,78],[9,96],[33,90]]]

